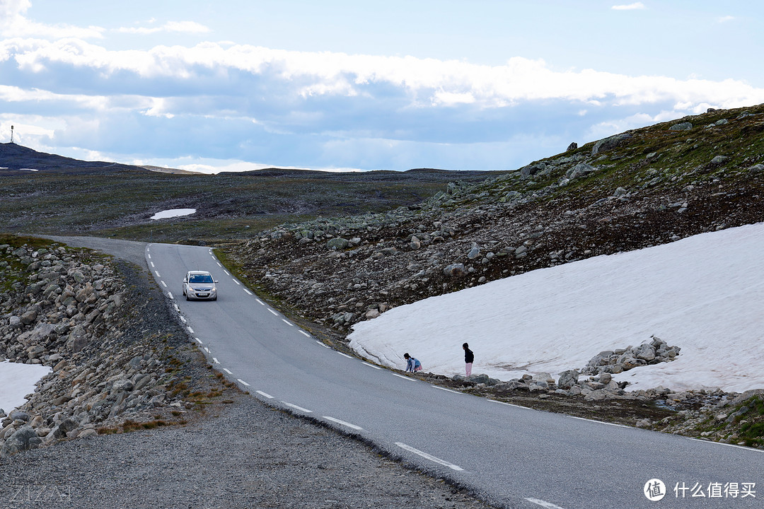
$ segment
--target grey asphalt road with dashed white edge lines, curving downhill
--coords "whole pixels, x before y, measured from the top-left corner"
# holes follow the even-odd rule
[[[209,248],[144,247],[189,333],[228,379],[267,404],[357,434],[450,478],[491,504],[742,508],[764,502],[764,451],[549,414],[419,382],[329,349],[244,288]],[[217,301],[183,298],[181,282],[191,269],[219,280]],[[643,493],[651,479],[665,485],[660,501]]]

